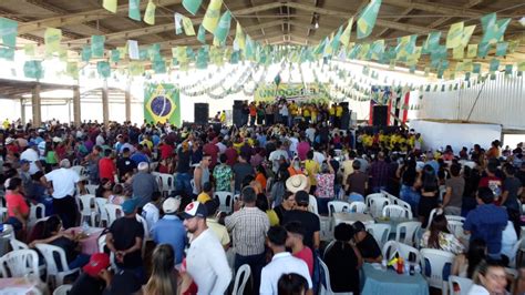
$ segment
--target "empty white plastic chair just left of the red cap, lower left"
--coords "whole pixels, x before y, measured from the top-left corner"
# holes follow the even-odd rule
[[[48,274],[47,281],[48,283],[51,282],[52,286],[61,286],[64,283],[65,276],[80,272],[80,268],[70,269],[63,248],[49,244],[37,244],[34,246],[44,256]],[[59,255],[59,262],[55,261],[55,254]]]

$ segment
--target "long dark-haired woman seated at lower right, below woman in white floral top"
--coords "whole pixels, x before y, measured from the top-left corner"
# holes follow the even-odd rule
[[[481,238],[473,240],[466,253],[455,257],[452,265],[452,275],[472,278],[480,262],[486,257],[486,243]]]

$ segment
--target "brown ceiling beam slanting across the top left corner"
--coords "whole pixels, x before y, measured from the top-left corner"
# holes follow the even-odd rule
[[[156,2],[157,2],[157,6],[164,7],[164,6],[179,4],[182,0],[158,0]],[[141,9],[145,9],[146,7],[147,7],[147,1],[141,1]],[[124,12],[127,12],[128,9],[130,9],[128,4],[119,6],[116,13],[124,14]],[[114,16],[115,14],[113,14],[112,12],[103,8],[100,8],[100,9],[83,11],[79,13],[70,13],[68,16],[59,16],[59,17],[52,17],[52,18],[47,18],[42,20],[19,23],[18,32],[19,34],[23,34],[31,31],[44,29],[47,27],[60,28],[66,24],[83,23],[83,22],[111,18]]]

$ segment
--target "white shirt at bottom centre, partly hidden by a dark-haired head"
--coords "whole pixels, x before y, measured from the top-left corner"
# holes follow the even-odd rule
[[[262,267],[260,273],[260,295],[278,294],[277,282],[284,274],[295,273],[306,278],[308,288],[312,288],[308,265],[302,260],[291,256],[289,252],[281,252],[274,255],[271,262]]]

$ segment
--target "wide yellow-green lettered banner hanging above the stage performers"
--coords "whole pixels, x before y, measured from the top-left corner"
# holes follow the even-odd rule
[[[317,83],[291,83],[291,84],[260,84],[254,93],[255,101],[274,101],[276,98],[302,102],[328,102],[330,95],[325,84]]]

